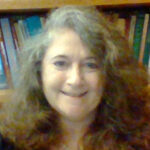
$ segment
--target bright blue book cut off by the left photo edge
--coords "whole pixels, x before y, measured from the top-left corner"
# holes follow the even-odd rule
[[[2,56],[0,54],[0,89],[8,88],[8,82],[4,71]]]

